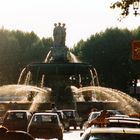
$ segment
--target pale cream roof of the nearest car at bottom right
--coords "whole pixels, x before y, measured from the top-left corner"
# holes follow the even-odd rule
[[[87,130],[89,131],[89,130]],[[127,133],[127,134],[140,134],[140,128],[121,128],[121,127],[103,127],[103,128],[90,128],[90,133]]]

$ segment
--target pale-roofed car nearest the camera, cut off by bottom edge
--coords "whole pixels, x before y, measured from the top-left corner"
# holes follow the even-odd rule
[[[80,140],[139,140],[139,128],[88,128],[80,134]]]

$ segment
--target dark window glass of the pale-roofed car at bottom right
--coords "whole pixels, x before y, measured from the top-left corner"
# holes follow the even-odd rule
[[[89,136],[86,140],[139,140],[138,134],[94,134]]]

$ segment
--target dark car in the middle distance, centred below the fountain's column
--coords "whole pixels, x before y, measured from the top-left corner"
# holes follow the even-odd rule
[[[76,129],[79,126],[82,129],[83,121],[76,110],[64,109],[62,111],[69,122],[69,128],[73,126]]]

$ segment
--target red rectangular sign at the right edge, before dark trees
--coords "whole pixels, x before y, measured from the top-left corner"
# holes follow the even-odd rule
[[[140,40],[134,40],[132,42],[132,59],[140,60]]]

